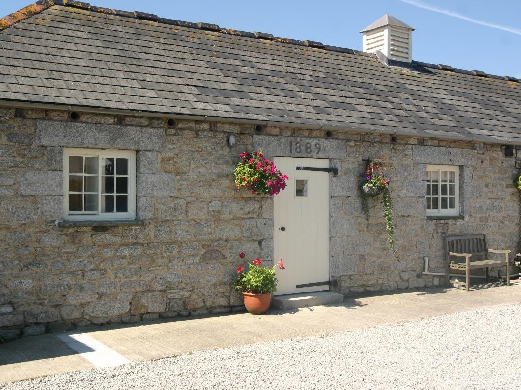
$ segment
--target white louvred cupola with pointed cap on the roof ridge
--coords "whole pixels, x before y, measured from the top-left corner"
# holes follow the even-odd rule
[[[390,60],[411,62],[413,31],[410,25],[394,16],[383,15],[361,31],[364,34],[363,50],[366,53],[381,51]]]

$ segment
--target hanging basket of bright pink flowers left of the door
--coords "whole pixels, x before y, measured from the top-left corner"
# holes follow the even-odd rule
[[[257,195],[278,194],[286,187],[288,175],[283,175],[275,163],[264,158],[262,150],[242,152],[241,161],[233,171],[237,188],[247,188]]]

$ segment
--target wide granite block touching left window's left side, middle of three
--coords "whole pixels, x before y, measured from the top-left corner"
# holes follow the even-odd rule
[[[61,195],[63,172],[23,171],[20,174],[18,192],[23,195]]]

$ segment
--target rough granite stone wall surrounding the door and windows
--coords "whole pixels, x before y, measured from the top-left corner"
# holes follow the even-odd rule
[[[273,200],[237,191],[238,153],[327,158],[332,289],[344,295],[429,287],[445,272],[442,235],[485,232],[491,248],[516,250],[514,160],[499,146],[140,116],[0,109],[0,336],[89,324],[242,310],[234,292],[238,254],[273,260]],[[229,148],[234,134],[237,145]],[[312,154],[289,142],[319,143]],[[292,144],[294,145],[294,144]],[[131,224],[64,223],[63,148],[137,150],[137,215]],[[316,148],[318,150],[318,147]],[[395,165],[396,250],[381,204],[369,221],[357,188],[365,158]],[[428,220],[426,164],[461,167],[463,219]],[[500,270],[501,272],[502,270]]]

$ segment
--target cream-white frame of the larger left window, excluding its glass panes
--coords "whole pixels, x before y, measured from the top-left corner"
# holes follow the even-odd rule
[[[98,158],[98,210],[95,215],[84,215],[69,212],[69,157],[97,157]],[[129,159],[128,173],[128,202],[127,212],[101,212],[102,197],[102,173],[101,162],[103,158],[125,158]],[[115,184],[114,184],[115,185]],[[135,219],[135,194],[136,194],[136,153],[135,150],[118,149],[85,149],[64,148],[64,220],[113,220],[113,219]]]

